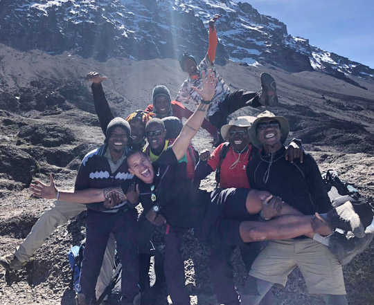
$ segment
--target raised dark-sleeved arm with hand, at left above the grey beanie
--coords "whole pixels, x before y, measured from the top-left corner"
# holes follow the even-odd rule
[[[91,89],[92,94],[94,95],[96,115],[98,115],[100,127],[105,134],[107,132],[109,122],[114,119],[114,115],[109,108],[107,99],[105,98],[103,86],[101,85],[101,82],[103,82],[103,80],[107,80],[107,77],[100,76],[100,74],[97,72],[90,72],[87,75],[87,80],[92,82]]]

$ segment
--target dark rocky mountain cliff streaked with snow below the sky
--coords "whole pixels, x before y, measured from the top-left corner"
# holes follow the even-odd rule
[[[352,75],[374,80],[374,70],[293,37],[275,18],[231,0],[3,0],[0,42],[19,50],[69,51],[106,60],[197,59],[207,46],[206,24],[220,14],[217,62],[273,64],[286,71],[321,71],[359,86]]]

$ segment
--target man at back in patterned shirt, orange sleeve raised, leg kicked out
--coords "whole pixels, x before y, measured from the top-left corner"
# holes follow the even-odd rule
[[[268,73],[261,74],[261,86],[262,91],[252,92],[247,90],[238,90],[231,92],[229,86],[227,86],[218,75],[215,70],[214,60],[215,51],[217,49],[217,32],[215,30],[215,21],[219,19],[220,15],[215,15],[209,21],[209,46],[208,52],[199,66],[195,58],[188,54],[183,53],[179,58],[179,64],[182,71],[188,73],[188,79],[186,79],[177,94],[177,102],[183,104],[188,104],[192,102],[193,104],[199,104],[201,100],[200,95],[193,90],[193,86],[197,88],[202,87],[202,71],[208,71],[211,69],[213,73],[218,78],[217,88],[215,89],[215,95],[209,106],[206,117],[208,121],[211,122],[220,133],[221,127],[227,123],[227,117],[234,111],[246,106],[260,107],[261,105],[271,105],[274,106],[278,104],[278,97],[276,95],[276,82],[271,75]],[[222,136],[219,135],[219,139],[215,143],[218,146],[222,143]]]

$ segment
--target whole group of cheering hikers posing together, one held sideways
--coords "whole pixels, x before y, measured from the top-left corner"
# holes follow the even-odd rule
[[[55,205],[14,254],[1,257],[3,266],[19,270],[58,225],[87,210],[78,305],[96,304],[112,277],[115,246],[123,266],[121,304],[133,304],[139,293],[141,304],[155,304],[148,275],[155,230],[165,237],[163,269],[172,303],[190,304],[180,250],[182,234],[190,228],[211,246],[208,261],[219,304],[265,302],[271,286],[285,285],[296,266],[310,293],[326,304],[348,304],[341,264],[325,246],[339,221],[328,221],[332,205],[315,160],[298,140],[285,145],[289,124],[270,111],[227,122],[242,107],[271,106],[278,99],[267,73],[258,92],[231,92],[217,74],[218,18],[209,23],[202,62],[197,66],[191,55],[182,55],[188,79],[176,100],[166,86],[156,86],[144,111],[114,118],[101,84],[105,77],[89,73],[105,142],[84,156],[72,192],[58,190],[52,176],[49,185],[30,185],[35,196],[56,199]],[[197,105],[194,112],[182,104],[188,102]],[[184,124],[181,118],[187,118]],[[198,154],[191,144],[200,127],[213,136],[213,152]],[[217,187],[200,190],[211,172]],[[268,243],[260,251],[262,241]],[[230,263],[236,247],[249,271],[241,295]]]

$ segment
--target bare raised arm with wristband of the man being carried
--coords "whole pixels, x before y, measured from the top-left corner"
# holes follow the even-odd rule
[[[190,140],[195,136],[199,128],[202,126],[206,111],[208,111],[211,100],[215,94],[215,86],[217,84],[217,78],[215,75],[213,75],[213,73],[211,73],[209,70],[208,75],[206,76],[205,72],[203,71],[202,80],[202,89],[193,87],[193,89],[202,96],[202,101],[193,115],[188,118],[181,130],[181,133],[179,133],[179,136],[171,146],[177,160],[180,160],[183,158],[184,154],[186,154]]]

